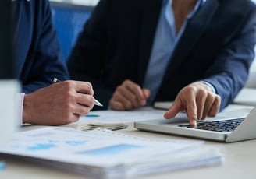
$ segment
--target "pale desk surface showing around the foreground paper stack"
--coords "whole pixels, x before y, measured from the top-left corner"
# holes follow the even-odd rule
[[[178,137],[174,135],[163,135],[151,132],[142,132],[133,128],[133,124],[128,124],[129,127],[119,132],[127,133],[130,135],[151,137],[151,138],[165,138],[165,139],[188,139],[183,137]],[[23,130],[30,130],[32,128],[37,128],[36,126],[24,127]],[[197,140],[197,139],[190,139]],[[215,179],[218,178],[255,178],[256,170],[256,139],[244,142],[236,143],[219,143],[219,142],[205,142],[206,146],[214,146],[219,149],[221,153],[225,156],[225,161],[222,165],[215,167],[203,167],[203,168],[193,168],[190,170],[177,170],[174,172],[169,172],[165,174],[157,174],[154,176],[139,177],[140,179],[167,179],[167,178],[208,178]],[[5,160],[6,168],[0,170],[0,178],[26,178],[26,179],[52,179],[52,178],[72,178],[80,179],[85,178],[84,176],[78,174],[67,173],[63,170],[53,169],[51,167],[46,167],[41,164],[28,162],[25,160],[17,159],[12,156],[2,156],[1,160]]]

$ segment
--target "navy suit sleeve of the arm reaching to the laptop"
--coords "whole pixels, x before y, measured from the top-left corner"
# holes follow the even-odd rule
[[[254,60],[256,44],[256,10],[253,9],[244,22],[240,33],[226,45],[217,56],[214,65],[208,69],[206,82],[215,86],[222,99],[221,110],[226,107],[247,81],[249,69]]]

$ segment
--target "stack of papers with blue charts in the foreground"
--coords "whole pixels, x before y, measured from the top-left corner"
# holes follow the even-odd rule
[[[17,133],[0,153],[29,157],[94,178],[127,178],[212,166],[222,155],[203,142],[146,139],[96,129],[41,128]]]

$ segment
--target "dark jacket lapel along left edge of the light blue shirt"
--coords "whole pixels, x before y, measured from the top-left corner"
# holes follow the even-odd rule
[[[155,30],[158,26],[158,18],[162,8],[162,1],[145,0],[141,8],[140,26],[140,46],[139,46],[139,65],[138,65],[138,83],[141,85],[144,80],[144,75],[148,67],[148,61],[151,54],[151,47],[154,43]]]

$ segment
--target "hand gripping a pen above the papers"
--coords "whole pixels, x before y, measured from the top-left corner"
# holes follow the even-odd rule
[[[94,91],[90,82],[57,82],[26,94],[23,103],[23,123],[34,125],[66,125],[78,121],[94,106]]]

